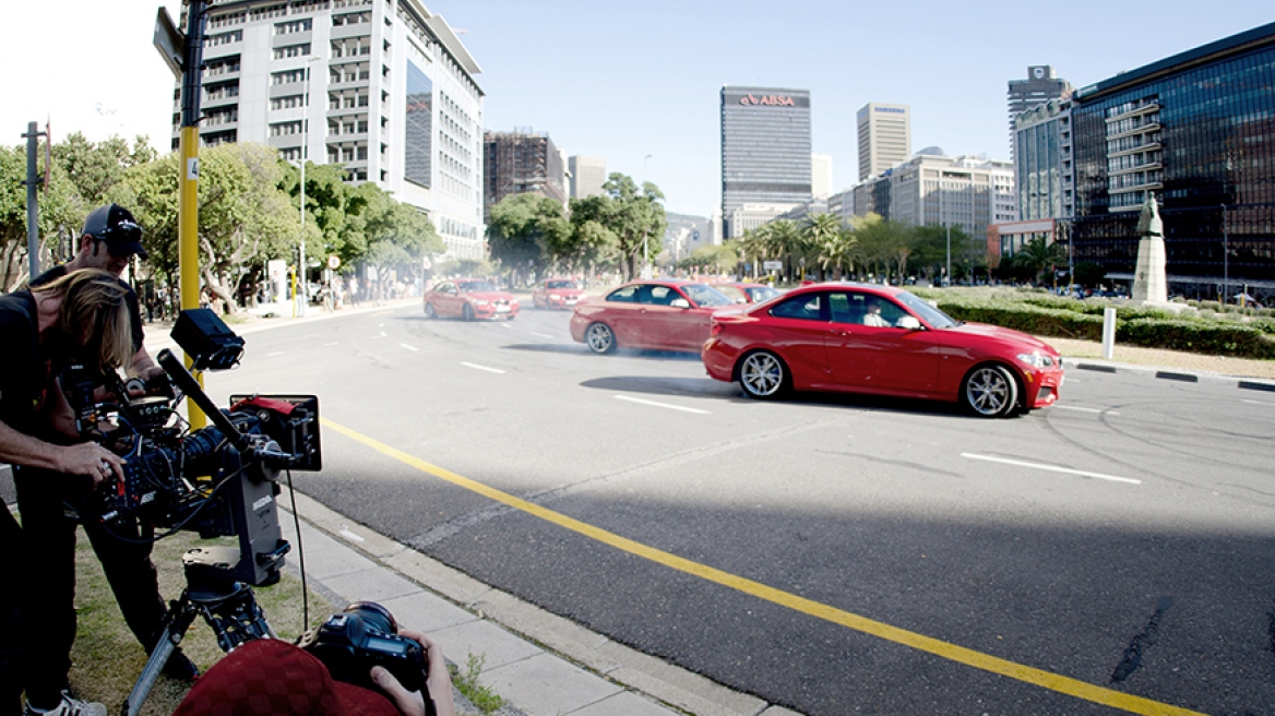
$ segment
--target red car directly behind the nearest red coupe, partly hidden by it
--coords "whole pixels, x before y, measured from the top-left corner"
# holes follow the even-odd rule
[[[638,280],[602,298],[578,303],[571,338],[594,353],[617,347],[699,353],[709,339],[709,319],[734,302],[691,280]]]

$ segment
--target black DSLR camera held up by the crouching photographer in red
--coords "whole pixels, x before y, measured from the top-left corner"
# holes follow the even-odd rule
[[[425,647],[399,636],[394,617],[375,601],[356,601],[328,617],[302,634],[297,645],[323,661],[338,682],[375,691],[368,671],[384,666],[403,688],[421,692],[427,708],[431,706]]]

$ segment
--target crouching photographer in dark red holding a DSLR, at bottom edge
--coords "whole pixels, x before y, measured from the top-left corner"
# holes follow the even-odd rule
[[[437,716],[454,716],[451,675],[442,647],[421,632],[399,629],[426,650],[426,691]],[[309,651],[278,640],[251,641],[213,665],[173,716],[320,715],[425,716],[425,696],[409,692],[384,666],[371,679],[384,693],[337,682]]]

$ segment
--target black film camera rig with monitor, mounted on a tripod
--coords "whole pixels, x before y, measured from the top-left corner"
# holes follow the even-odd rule
[[[207,308],[182,311],[173,340],[195,369],[238,364],[244,340]],[[140,711],[156,679],[198,617],[229,652],[274,637],[252,586],[279,580],[291,545],[279,529],[280,470],[320,470],[319,399],[312,395],[236,395],[227,410],[168,349],[159,352],[167,381],[125,385],[119,375],[71,366],[62,387],[79,433],[125,459],[124,478],[107,480],[85,519],[112,525],[136,521],[149,539],[156,529],[198,531],[201,538],[235,536],[238,547],[200,547],[182,555],[186,589],[164,615],[164,629],[124,702]],[[148,395],[133,397],[131,392]],[[182,399],[210,426],[190,429],[177,412]]]

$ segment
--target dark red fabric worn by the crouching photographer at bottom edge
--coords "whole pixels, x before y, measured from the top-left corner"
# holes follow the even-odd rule
[[[335,682],[301,647],[251,641],[195,682],[173,716],[399,716],[385,696]]]

